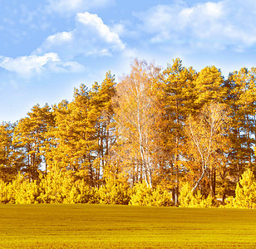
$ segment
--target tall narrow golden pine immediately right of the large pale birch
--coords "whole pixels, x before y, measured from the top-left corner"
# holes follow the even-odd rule
[[[197,74],[193,68],[185,68],[177,58],[161,74],[160,89],[165,115],[162,117],[162,141],[165,148],[166,164],[169,165],[172,193],[178,203],[180,171],[179,165],[184,154],[185,119],[194,113],[194,80]]]

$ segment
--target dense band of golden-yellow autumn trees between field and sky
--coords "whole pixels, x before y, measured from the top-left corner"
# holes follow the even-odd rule
[[[256,68],[135,60],[35,105],[0,125],[0,203],[255,207],[255,83]]]

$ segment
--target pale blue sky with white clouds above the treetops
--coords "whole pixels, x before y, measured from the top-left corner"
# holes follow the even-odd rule
[[[255,0],[0,0],[0,17],[0,122],[72,100],[106,71],[118,81],[135,57],[224,76],[256,66]]]

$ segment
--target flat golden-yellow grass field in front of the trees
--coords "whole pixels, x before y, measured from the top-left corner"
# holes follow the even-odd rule
[[[255,248],[256,212],[89,204],[0,205],[0,248]]]

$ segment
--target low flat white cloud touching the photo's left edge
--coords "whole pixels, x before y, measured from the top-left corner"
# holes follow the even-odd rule
[[[16,58],[0,56],[0,66],[19,76],[30,77],[46,69],[53,72],[81,71],[83,66],[75,61],[61,61],[57,53],[46,53],[42,56],[19,56]]]

